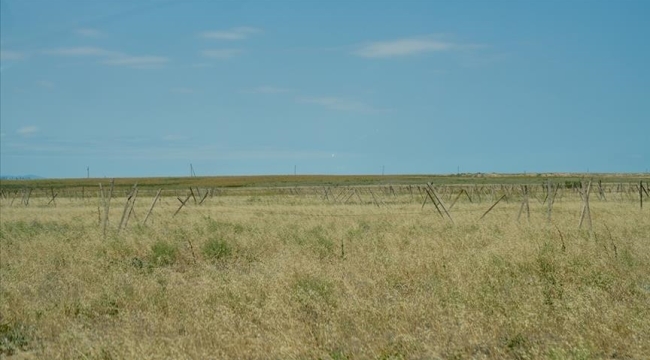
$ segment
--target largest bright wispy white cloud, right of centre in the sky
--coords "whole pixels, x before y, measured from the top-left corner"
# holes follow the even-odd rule
[[[359,46],[354,54],[366,58],[389,58],[478,47],[481,45],[458,44],[434,38],[405,38],[364,44]]]

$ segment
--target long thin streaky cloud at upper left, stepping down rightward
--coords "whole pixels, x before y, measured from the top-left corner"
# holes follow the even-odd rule
[[[104,65],[124,66],[139,69],[160,68],[169,62],[169,58],[164,56],[133,56],[99,47],[58,48],[45,50],[44,53],[55,56],[103,58],[100,63]]]

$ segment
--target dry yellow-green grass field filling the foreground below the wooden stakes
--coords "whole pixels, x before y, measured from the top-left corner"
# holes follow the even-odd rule
[[[650,204],[418,192],[0,200],[0,355],[18,359],[648,359]],[[373,196],[376,199],[373,199]],[[183,196],[184,197],[184,196]],[[449,207],[453,196],[443,196]],[[540,199],[543,200],[543,199]],[[376,202],[376,203],[375,203]],[[377,206],[377,204],[379,206]]]

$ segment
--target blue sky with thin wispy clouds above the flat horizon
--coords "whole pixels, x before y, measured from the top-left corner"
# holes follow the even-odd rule
[[[3,175],[650,168],[650,1],[1,5]]]

